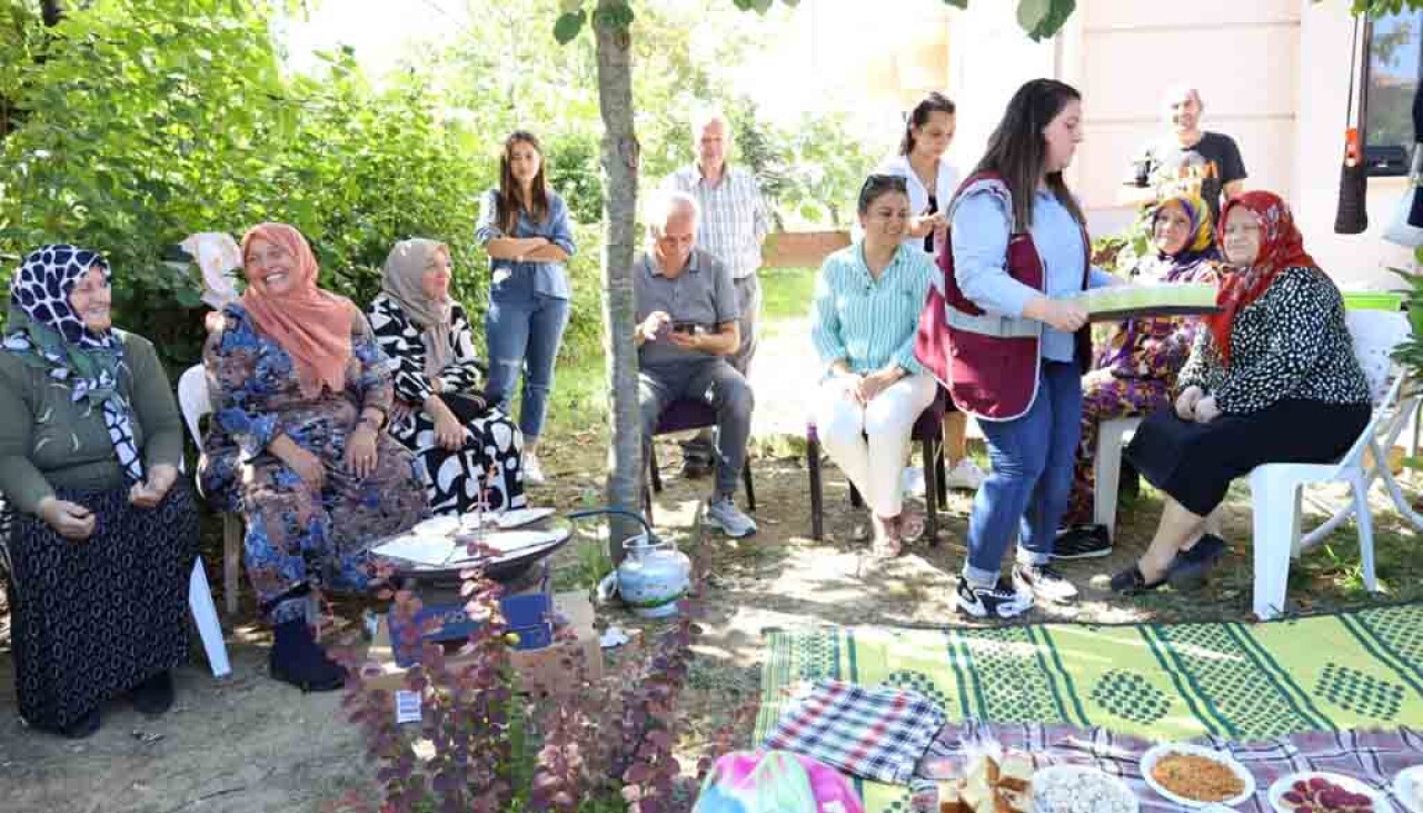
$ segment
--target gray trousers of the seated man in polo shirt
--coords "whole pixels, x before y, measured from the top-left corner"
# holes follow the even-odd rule
[[[652,437],[662,410],[679,399],[700,400],[716,409],[716,494],[736,494],[746,466],[746,441],[751,437],[751,410],[756,406],[751,386],[721,357],[643,369],[638,373],[643,437]]]

